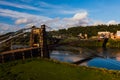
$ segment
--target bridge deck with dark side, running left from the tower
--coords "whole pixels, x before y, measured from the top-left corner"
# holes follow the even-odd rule
[[[0,63],[41,56],[39,47],[16,49],[0,53]]]

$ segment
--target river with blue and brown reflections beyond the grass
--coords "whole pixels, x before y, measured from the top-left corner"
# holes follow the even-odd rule
[[[89,61],[84,61],[79,65],[120,70],[120,49],[118,48],[102,49],[62,46],[51,51],[50,56],[52,59],[69,63],[92,57]]]

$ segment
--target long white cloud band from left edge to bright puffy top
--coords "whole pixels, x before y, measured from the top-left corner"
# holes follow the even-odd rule
[[[69,28],[73,26],[86,26],[90,22],[87,11],[76,13],[70,18],[49,18],[8,9],[0,9],[0,16],[13,18],[16,25],[40,26],[41,24],[46,24],[53,29]]]

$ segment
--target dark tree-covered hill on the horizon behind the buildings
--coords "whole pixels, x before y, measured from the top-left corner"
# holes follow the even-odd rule
[[[97,26],[76,26],[76,27],[70,27],[68,29],[59,29],[57,31],[51,31],[50,33],[53,35],[62,35],[65,38],[71,37],[71,36],[78,36],[79,33],[87,34],[88,37],[96,36],[99,31],[109,31],[115,34],[117,30],[120,30],[120,24],[118,25],[97,25]]]

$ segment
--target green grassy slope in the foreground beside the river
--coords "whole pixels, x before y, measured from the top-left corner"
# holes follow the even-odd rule
[[[120,71],[76,66],[47,59],[0,64],[0,80],[119,80]]]

